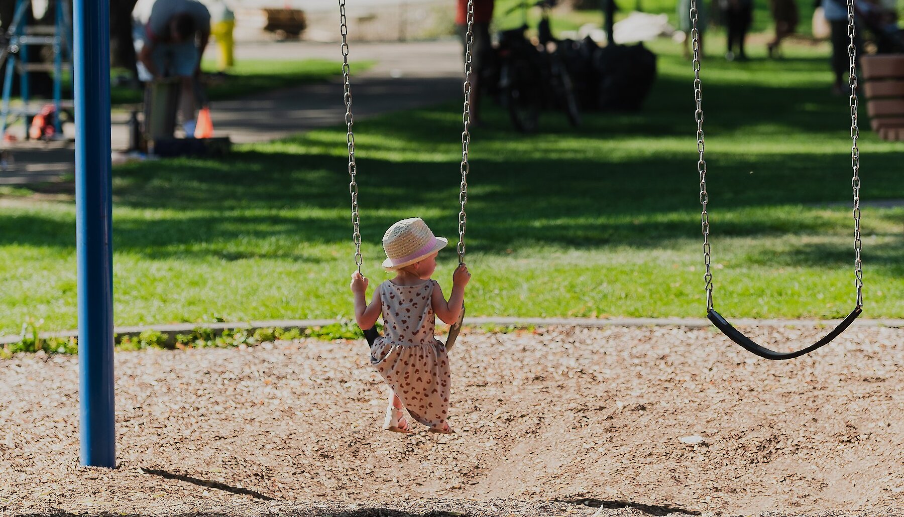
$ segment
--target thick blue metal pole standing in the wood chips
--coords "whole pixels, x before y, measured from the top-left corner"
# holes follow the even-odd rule
[[[81,464],[116,466],[108,0],[75,0]]]

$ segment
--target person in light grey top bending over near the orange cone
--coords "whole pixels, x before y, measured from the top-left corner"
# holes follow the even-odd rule
[[[194,136],[194,81],[211,36],[210,12],[197,0],[155,0],[137,4],[132,17],[138,80],[179,78],[182,127]]]

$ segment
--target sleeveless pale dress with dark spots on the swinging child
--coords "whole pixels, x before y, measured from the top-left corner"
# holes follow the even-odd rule
[[[436,316],[430,300],[436,280],[417,286],[383,282],[380,303],[383,335],[371,346],[371,364],[399,396],[411,417],[442,428],[449,408],[452,373],[446,345],[434,335]]]

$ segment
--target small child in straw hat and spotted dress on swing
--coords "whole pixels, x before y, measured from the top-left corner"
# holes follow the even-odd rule
[[[471,274],[464,264],[452,274],[452,294],[446,301],[436,280],[437,254],[447,240],[435,237],[420,218],[396,222],[383,235],[386,260],[383,268],[396,272],[373,292],[371,305],[364,293],[368,280],[352,274],[354,317],[362,329],[370,329],[383,317],[385,336],[371,345],[371,364],[390,387],[390,402],[383,428],[411,432],[410,416],[428,426],[430,432],[452,433],[446,418],[449,408],[451,371],[446,345],[434,333],[436,317],[453,324],[465,299]]]

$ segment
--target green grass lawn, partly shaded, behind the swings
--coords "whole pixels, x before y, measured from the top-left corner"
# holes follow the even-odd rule
[[[550,113],[544,133],[522,136],[487,105],[471,147],[469,315],[704,315],[692,71],[673,43],[653,47],[659,77],[640,113],[588,114],[579,130]],[[728,317],[852,308],[850,114],[829,93],[826,52],[703,64],[714,298]],[[457,234],[458,109],[355,124],[372,286],[387,277],[392,222]],[[904,199],[904,143],[861,121],[863,200]],[[224,160],[118,167],[116,323],[351,316],[344,141],[335,127]],[[904,207],[862,213],[865,317],[902,317]],[[28,317],[76,326],[74,231],[71,202],[0,200],[0,330]],[[454,246],[440,253],[447,293],[456,261]]]

